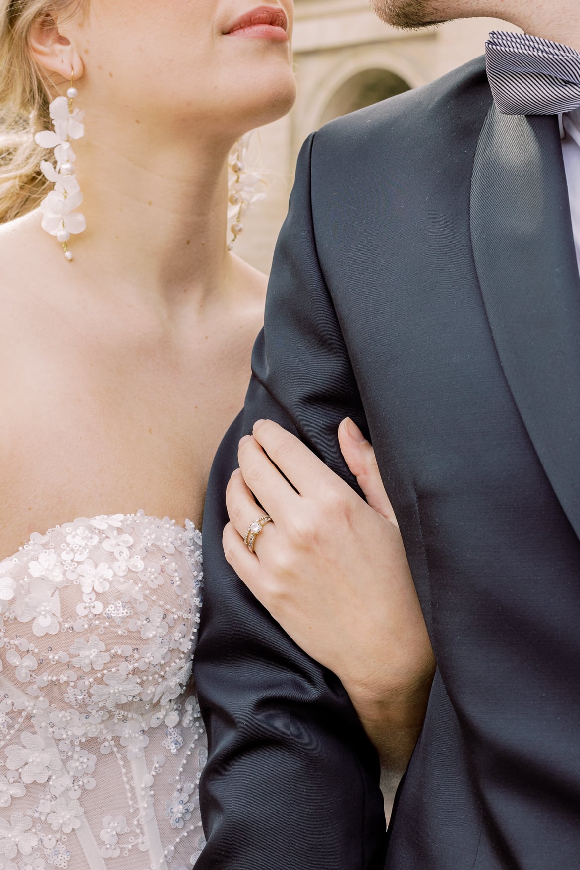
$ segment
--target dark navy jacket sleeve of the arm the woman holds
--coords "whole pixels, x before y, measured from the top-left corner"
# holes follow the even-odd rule
[[[377,755],[337,677],[303,653],[223,558],[237,443],[277,420],[349,478],[337,443],[361,400],[318,263],[303,145],[242,414],[217,453],[203,521],[205,589],[195,679],[209,738],[196,870],[378,870],[385,822]],[[358,288],[353,287],[353,293]],[[356,602],[353,602],[356,606]]]

